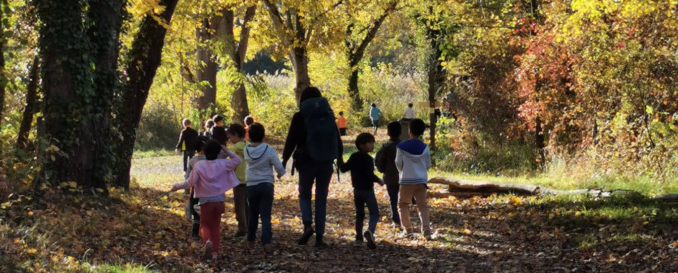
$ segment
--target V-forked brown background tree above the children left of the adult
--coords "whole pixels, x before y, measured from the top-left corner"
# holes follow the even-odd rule
[[[234,20],[237,19],[236,8],[226,7],[222,9],[222,19],[218,28],[218,36],[222,39],[223,51],[231,59],[231,65],[234,66],[235,72],[244,76],[243,64],[245,63],[245,54],[247,53],[247,45],[250,41],[250,30],[252,30],[252,19],[256,14],[256,2],[247,6],[241,22],[239,39],[236,39],[234,28],[236,26]],[[238,80],[233,82],[237,84],[237,88],[233,91],[231,96],[231,107],[234,111],[234,120],[243,120],[245,116],[250,114],[250,107],[247,105],[247,93],[245,92],[245,82]]]

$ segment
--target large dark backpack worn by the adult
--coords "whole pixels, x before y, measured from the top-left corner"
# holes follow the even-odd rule
[[[324,97],[306,99],[300,105],[306,124],[306,153],[315,161],[332,161],[339,157],[334,111]]]

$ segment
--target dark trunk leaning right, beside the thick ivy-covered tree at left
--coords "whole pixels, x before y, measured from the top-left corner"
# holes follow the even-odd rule
[[[161,0],[165,9],[157,16],[169,24],[178,0]],[[132,166],[132,153],[136,141],[136,128],[148,98],[148,90],[160,65],[161,52],[165,43],[167,29],[157,22],[154,16],[146,15],[132,42],[127,58],[127,82],[123,90],[123,99],[119,105],[116,124],[122,136],[117,147],[115,185],[129,188],[129,168]]]

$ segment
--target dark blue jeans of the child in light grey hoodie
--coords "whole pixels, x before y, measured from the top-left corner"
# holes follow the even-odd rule
[[[250,203],[250,217],[247,219],[247,241],[254,242],[256,229],[261,217],[261,243],[270,244],[271,207],[273,207],[273,184],[261,183],[247,186],[247,202]]]

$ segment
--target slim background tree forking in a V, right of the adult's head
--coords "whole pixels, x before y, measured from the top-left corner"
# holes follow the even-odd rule
[[[355,18],[353,12],[348,13],[349,23],[346,26],[346,39],[344,44],[346,45],[346,57],[348,57],[348,68],[351,69],[351,76],[348,77],[348,95],[351,97],[351,107],[354,110],[360,111],[363,108],[363,100],[360,98],[360,93],[358,91],[358,65],[360,61],[365,56],[365,49],[367,45],[370,45],[374,37],[391,12],[395,11],[398,1],[391,1],[387,3],[384,11],[367,23],[367,26],[360,26],[357,22],[360,18]],[[361,27],[361,29],[356,30],[355,28]],[[356,39],[354,36],[363,35],[362,40]]]

